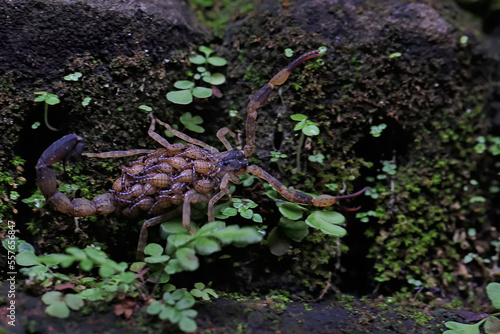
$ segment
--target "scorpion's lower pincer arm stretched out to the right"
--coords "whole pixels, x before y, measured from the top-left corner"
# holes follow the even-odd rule
[[[247,172],[266,180],[271,186],[273,186],[274,189],[276,189],[281,194],[281,196],[283,196],[290,202],[314,205],[318,207],[332,206],[341,199],[359,196],[366,190],[366,188],[363,188],[354,194],[343,196],[319,195],[318,197],[314,197],[294,189],[288,189],[280,181],[278,181],[271,174],[269,174],[259,166],[249,166],[247,168]]]

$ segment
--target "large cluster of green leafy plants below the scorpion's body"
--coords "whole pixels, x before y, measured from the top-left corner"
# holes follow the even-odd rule
[[[132,299],[150,295],[154,300],[147,308],[148,314],[176,324],[184,332],[192,332],[197,328],[197,312],[192,308],[195,301],[207,301],[218,295],[203,283],[195,283],[190,291],[176,288],[169,283],[171,275],[198,269],[199,256],[218,252],[224,245],[242,247],[260,242],[262,234],[254,227],[226,226],[221,221],[205,224],[190,233],[180,220],[163,223],[161,234],[167,240],[166,246],[148,244],[144,249],[145,258],[140,262],[117,263],[95,247],[70,247],[66,254],[36,255],[33,246],[21,240],[16,241],[19,252],[16,262],[23,267],[19,271],[31,282],[38,282],[49,290],[42,296],[48,315],[67,318],[70,310],[80,310],[85,303],[120,303],[117,298],[120,295]],[[78,268],[77,273],[59,272],[60,268],[72,266]],[[69,288],[78,286],[78,289],[74,289],[75,293],[63,294],[50,290],[54,283],[66,283]],[[153,287],[149,286],[151,283]],[[161,294],[157,293],[156,285],[161,287]]]

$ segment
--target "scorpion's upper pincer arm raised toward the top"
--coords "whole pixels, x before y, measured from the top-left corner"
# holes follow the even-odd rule
[[[252,97],[247,106],[247,122],[245,127],[246,145],[243,148],[243,153],[247,158],[252,155],[255,148],[255,121],[257,119],[257,109],[266,103],[275,86],[282,85],[288,79],[288,76],[295,67],[302,64],[306,60],[320,56],[321,53],[319,50],[303,54],[299,58],[295,59],[290,65],[279,71],[278,74],[269,80],[269,82]]]

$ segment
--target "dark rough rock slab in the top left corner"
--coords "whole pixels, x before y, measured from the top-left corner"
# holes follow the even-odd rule
[[[182,1],[2,1],[0,73],[50,82],[71,56],[104,61],[134,51],[165,57],[199,38]]]

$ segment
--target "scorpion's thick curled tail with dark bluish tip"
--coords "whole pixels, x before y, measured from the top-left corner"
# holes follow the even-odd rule
[[[71,201],[57,190],[56,175],[50,166],[69,157],[80,156],[84,146],[83,138],[74,134],[66,135],[50,145],[42,153],[36,165],[38,186],[45,199],[59,212],[75,217],[111,213],[116,210],[116,206],[109,193],[97,196],[92,201],[84,198]]]

